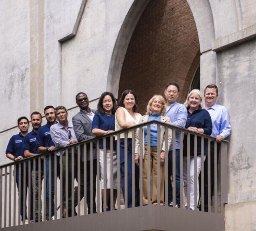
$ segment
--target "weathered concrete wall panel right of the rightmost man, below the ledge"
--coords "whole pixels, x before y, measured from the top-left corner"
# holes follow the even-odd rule
[[[230,113],[228,203],[256,199],[256,40],[217,55],[220,101]]]

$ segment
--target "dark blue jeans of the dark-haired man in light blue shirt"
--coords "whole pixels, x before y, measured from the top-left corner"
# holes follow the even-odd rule
[[[180,205],[180,164],[179,164],[179,149],[175,151],[175,186],[176,186],[176,204]],[[172,176],[172,150],[168,153],[168,179]],[[168,203],[172,202],[172,182],[168,184]]]

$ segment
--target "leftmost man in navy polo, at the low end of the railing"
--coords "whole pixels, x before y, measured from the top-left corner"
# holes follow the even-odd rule
[[[22,116],[18,119],[18,128],[20,130],[19,134],[12,136],[12,138],[9,140],[9,143],[7,145],[6,148],[6,157],[13,160],[14,162],[18,162],[21,159],[26,158],[24,156],[24,151],[23,151],[23,140],[24,140],[24,136],[26,136],[26,134],[28,134],[28,127],[29,127],[29,122],[28,122],[28,118],[25,116]],[[21,221],[23,221],[23,219],[28,219],[27,217],[27,206],[26,206],[26,195],[27,195],[27,191],[28,191],[28,169],[26,169],[26,186],[25,186],[25,195],[23,193],[23,164],[21,163],[21,185],[20,185],[20,192],[19,192],[19,196],[20,196],[20,200],[21,200]],[[16,184],[19,190],[19,165],[16,166]],[[25,196],[25,198],[24,198]],[[25,199],[25,216],[23,217],[23,200]],[[30,197],[30,200],[33,202],[33,197]],[[32,204],[32,203],[31,203]],[[30,207],[30,220],[33,220],[33,206]]]

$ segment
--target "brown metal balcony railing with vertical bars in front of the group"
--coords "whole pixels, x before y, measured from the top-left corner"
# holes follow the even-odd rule
[[[147,126],[147,139],[148,143],[150,143],[150,137],[151,137],[151,132],[150,132],[150,125],[151,124],[156,124],[157,125],[157,200],[154,205],[151,205],[151,196],[152,196],[152,187],[153,187],[153,180],[148,177],[147,178],[147,185],[144,188],[147,188],[147,205],[143,206],[143,159],[142,159],[142,145],[140,145],[140,166],[137,167],[135,165],[135,135],[137,133],[138,140],[140,141],[140,144],[142,143],[143,139],[143,130],[142,128],[144,126]],[[163,139],[165,140],[165,161],[164,161],[164,202],[161,203],[161,159],[160,159],[160,152],[161,152],[161,145],[160,145],[160,134],[161,134],[161,127],[165,129],[165,135]],[[173,152],[172,152],[172,163],[168,164],[168,130],[172,130],[172,142],[173,142]],[[132,187],[128,187],[128,172],[130,169],[128,169],[128,160],[129,160],[129,150],[128,150],[128,132],[132,133],[132,138],[131,138],[131,152],[132,152]],[[168,199],[168,185],[172,183],[172,201],[173,204],[176,204],[176,185],[175,185],[175,180],[171,180],[168,178],[168,171],[170,167],[172,167],[172,178],[175,179],[176,175],[176,165],[175,165],[175,146],[176,146],[176,131],[179,131],[179,141],[180,141],[180,161],[179,161],[179,166],[180,166],[180,207],[176,208],[175,206],[169,207],[170,200]],[[121,140],[121,136],[124,134],[124,139]],[[183,157],[183,139],[184,139],[184,134],[187,136],[187,158],[185,159]],[[116,199],[116,205],[115,205],[115,210],[117,211],[112,211],[114,208],[110,206],[110,212],[106,212],[107,208],[107,190],[106,187],[103,189],[103,195],[101,194],[101,187],[100,187],[100,156],[99,156],[99,142],[102,139],[104,148],[104,185],[106,185],[106,173],[107,170],[110,171],[110,179],[111,179],[111,189],[110,189],[110,205],[113,204],[114,201],[114,189],[113,189],[113,183],[114,183],[114,176],[113,176],[113,157],[114,157],[114,146],[113,146],[113,141],[116,137],[116,157],[117,157],[117,199]],[[190,179],[189,179],[189,172],[190,172],[190,153],[191,153],[191,137],[194,137],[194,166],[193,171],[195,175],[195,182],[194,182],[194,190],[195,190],[195,198],[194,198],[194,204],[195,204],[195,210],[190,210],[190,204],[191,204],[191,196],[189,192],[190,188]],[[110,169],[106,168],[106,141],[107,139],[110,139]],[[204,164],[202,164],[201,167],[201,172],[200,172],[200,182],[201,182],[201,190],[200,190],[200,203],[201,203],[201,210],[199,211],[198,209],[198,198],[197,198],[197,183],[198,183],[198,176],[197,176],[197,153],[198,153],[198,145],[197,142],[201,141],[201,154],[199,157],[201,157],[201,162],[204,162],[204,148],[205,148],[205,142],[207,142],[207,187],[208,187],[208,193],[207,193],[207,203],[208,203],[208,211],[204,211],[204,203],[205,203],[205,192],[204,192]],[[120,142],[124,141],[124,195],[122,196],[122,190],[121,190],[121,164],[120,164]],[[213,147],[213,152],[211,152],[211,145]],[[218,148],[220,148],[218,150]],[[93,148],[96,149],[96,165],[93,164]],[[56,155],[57,152],[60,152],[60,156],[58,157]],[[147,152],[151,153],[151,146],[147,146]],[[87,153],[89,154],[89,159],[87,157]],[[219,155],[218,155],[219,154]],[[214,155],[214,158],[210,158],[211,155]],[[71,156],[71,157],[70,157]],[[147,172],[147,176],[151,176],[151,162],[150,162],[150,155],[148,157],[147,161],[147,169],[144,171]],[[211,166],[211,159],[214,159],[214,171],[213,169],[210,169]],[[65,160],[65,171],[63,171],[63,160]],[[51,185],[51,180],[54,180],[54,189],[49,187],[49,200],[48,200],[48,205],[47,205],[47,181],[46,177],[47,176],[47,168],[46,164],[47,161],[49,161],[49,185]],[[68,169],[68,162],[71,161],[71,169]],[[75,166],[75,161],[77,161],[77,166]],[[184,169],[184,163],[187,163],[187,168]],[[88,178],[88,166],[90,166],[90,178]],[[37,169],[38,168],[38,169]],[[96,181],[93,182],[93,171],[95,171],[96,168]],[[53,169],[53,171],[51,170]],[[185,198],[184,198],[184,178],[183,178],[183,173],[184,170],[187,171],[187,204],[185,204]],[[23,172],[21,172],[23,171]],[[32,171],[37,171],[37,176],[35,174],[32,174]],[[136,175],[135,172],[138,171],[138,174]],[[27,174],[27,175],[26,175]],[[54,177],[52,177],[52,174],[54,174]],[[65,176],[63,176],[65,174]],[[211,174],[214,174],[214,196],[212,198],[212,204],[211,204],[211,185],[210,185],[210,178]],[[21,176],[23,175],[23,178]],[[76,180],[74,180],[76,176]],[[17,180],[17,177],[19,178]],[[39,183],[38,185],[38,196],[36,196],[36,190],[33,190],[36,188],[36,177],[39,178],[39,182],[41,182],[41,179],[43,178],[42,185]],[[21,181],[25,182],[26,178],[28,180],[28,190],[27,190],[27,200],[26,196],[23,196],[23,201],[21,201],[21,194],[19,192],[22,191],[21,188]],[[63,180],[65,178],[65,181]],[[70,180],[71,179],[71,180]],[[82,181],[81,181],[82,180]],[[16,183],[17,181],[17,183]],[[138,181],[138,185],[137,185]],[[70,187],[70,182],[71,182],[71,195],[69,195],[69,187]],[[86,185],[90,185],[90,190],[86,190]],[[144,182],[145,184],[145,182]],[[25,224],[25,219],[23,219],[23,222],[21,221],[21,214],[23,214],[23,217],[28,217],[28,222],[30,222],[30,218],[33,221],[34,224],[26,226],[27,228],[29,226],[34,226],[37,225],[38,223],[43,224],[54,224],[54,222],[57,222],[56,220],[69,220],[69,219],[79,219],[79,217],[91,217],[93,218],[94,216],[97,216],[97,214],[106,214],[108,216],[108,225],[111,224],[112,219],[110,219],[110,215],[112,213],[115,213],[115,216],[119,213],[119,210],[127,210],[131,211],[126,214],[130,214],[130,216],[133,216],[134,214],[137,214],[136,209],[140,209],[140,212],[138,213],[141,215],[141,213],[144,211],[145,216],[147,211],[150,209],[152,211],[155,211],[156,213],[165,213],[165,219],[167,219],[165,230],[168,229],[168,211],[170,211],[170,216],[171,214],[176,213],[178,216],[184,216],[186,215],[186,222],[188,222],[188,219],[191,219],[191,223],[188,222],[188,224],[193,224],[197,225],[196,223],[199,222],[196,219],[200,219],[202,223],[205,221],[210,221],[212,219],[219,219],[222,224],[220,227],[223,227],[223,210],[224,210],[224,203],[227,203],[227,190],[228,190],[228,180],[227,180],[227,141],[221,141],[220,143],[217,143],[213,137],[207,136],[204,134],[200,134],[197,132],[192,132],[187,129],[182,129],[179,127],[175,127],[169,124],[165,124],[163,122],[159,122],[156,120],[152,120],[149,122],[145,122],[133,127],[129,127],[127,129],[123,129],[120,131],[113,132],[111,134],[107,134],[101,137],[96,137],[94,139],[90,139],[87,141],[82,141],[80,143],[73,144],[71,146],[67,146],[65,148],[61,148],[58,150],[54,150],[54,152],[48,152],[45,154],[39,154],[35,157],[30,157],[26,158],[24,160],[21,160],[19,162],[12,162],[10,164],[5,164],[0,166],[0,226],[2,228],[6,227],[11,227],[11,226],[19,226],[21,227],[23,224]],[[17,187],[19,185],[19,187]],[[93,188],[96,188],[96,196],[95,196],[95,204],[96,204],[96,211],[93,211]],[[84,189],[83,189],[84,187]],[[75,188],[75,189],[74,189]],[[131,190],[131,191],[130,191]],[[139,191],[139,192],[138,192]],[[23,184],[23,192],[26,192],[26,185]],[[89,195],[88,195],[89,192]],[[128,196],[132,196],[132,208],[128,208]],[[138,194],[137,194],[138,193]],[[163,192],[162,192],[163,193]],[[87,205],[86,201],[87,198],[90,198],[90,210],[87,211]],[[139,197],[139,203],[136,204],[136,196]],[[31,198],[33,197],[33,200]],[[72,203],[68,205],[69,197],[71,197]],[[42,205],[40,204],[40,200],[42,198]],[[83,200],[80,200],[81,198],[84,198]],[[52,204],[52,200],[54,199],[54,205]],[[77,207],[75,208],[75,204],[77,201]],[[123,202],[124,201],[124,202]],[[63,202],[65,202],[66,205],[66,214],[63,214]],[[36,205],[38,204],[38,215],[36,217]],[[21,206],[23,205],[23,206]],[[68,206],[67,206],[68,205]],[[145,205],[145,203],[144,203]],[[26,210],[27,206],[27,210]],[[54,207],[54,221],[48,222],[47,220],[51,220],[51,213],[49,213],[47,217],[47,210],[48,208]],[[23,207],[23,211],[21,211],[21,208]],[[163,209],[165,208],[165,209]],[[134,214],[133,211],[134,210]],[[42,211],[42,215],[40,213]],[[112,211],[112,212],[111,212]],[[88,212],[91,214],[89,215]],[[93,212],[97,214],[93,214]],[[121,211],[120,211],[121,212]],[[33,216],[32,214],[33,213]],[[143,213],[142,213],[143,214]],[[189,214],[189,215],[188,215]],[[194,215],[196,216],[194,216]],[[206,215],[203,214],[209,214],[211,216],[210,219],[207,219]],[[214,216],[214,214],[216,214]],[[156,217],[158,215],[156,214]],[[71,218],[70,218],[71,217]],[[197,217],[197,218],[195,218]],[[128,218],[128,217],[127,217]],[[138,218],[139,219],[139,218]],[[180,217],[180,221],[182,221],[184,217]],[[87,222],[90,221],[90,219],[86,219]],[[149,219],[150,220],[150,219]],[[205,221],[204,221],[205,220]],[[46,222],[47,221],[47,222]],[[93,219],[91,219],[93,222]],[[113,220],[114,221],[114,220]],[[179,222],[180,222],[179,221]],[[42,223],[43,222],[43,223]],[[96,221],[94,221],[94,225]],[[100,221],[98,221],[100,222]],[[106,222],[106,221],[105,221]],[[150,221],[151,222],[151,221]],[[213,222],[214,223],[214,222]],[[57,223],[56,223],[57,224]],[[65,224],[68,223],[65,222]],[[86,225],[89,225],[86,223]],[[133,224],[134,225],[134,224]],[[206,224],[207,227],[208,224]],[[39,226],[38,226],[39,227]],[[43,227],[43,226],[40,226]],[[106,225],[107,227],[107,225]],[[146,227],[146,226],[145,226]],[[26,228],[26,230],[27,230]],[[146,228],[145,228],[146,229]],[[157,228],[154,228],[157,229]],[[160,228],[159,228],[160,229]],[[209,227],[207,228],[208,230]],[[222,229],[222,228],[221,228]],[[114,230],[114,229],[112,229]],[[132,230],[132,229],[130,229]],[[140,224],[140,230],[144,230],[142,228],[142,224]],[[181,229],[182,230],[182,229]],[[191,229],[192,230],[192,229]],[[212,229],[212,230],[218,230],[218,229]]]

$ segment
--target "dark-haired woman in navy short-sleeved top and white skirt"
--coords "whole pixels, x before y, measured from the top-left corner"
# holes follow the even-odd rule
[[[98,110],[93,117],[92,132],[96,136],[102,136],[114,132],[115,129],[115,112],[117,109],[116,99],[110,92],[104,92],[100,96],[98,102]],[[104,153],[103,139],[100,140],[100,185],[104,189],[104,155],[106,155],[106,189],[107,189],[107,203],[106,210],[109,211],[109,206],[113,206],[113,210],[116,204],[117,196],[117,159],[116,159],[116,142],[113,137],[113,205],[110,205],[110,182],[111,182],[111,150],[110,150],[110,137],[106,138],[106,152]]]

